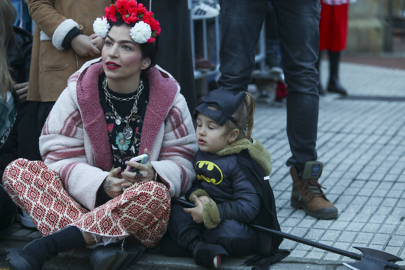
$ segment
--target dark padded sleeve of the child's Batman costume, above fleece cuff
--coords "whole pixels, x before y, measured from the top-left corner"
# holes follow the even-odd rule
[[[259,213],[260,197],[247,177],[239,164],[234,166],[231,179],[233,202],[217,204],[221,220],[234,219],[249,223]]]

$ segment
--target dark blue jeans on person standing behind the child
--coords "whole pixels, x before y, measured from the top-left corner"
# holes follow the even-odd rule
[[[220,0],[219,85],[239,93],[252,81],[254,55],[269,0]],[[320,0],[272,0],[287,87],[287,136],[298,173],[316,160]]]

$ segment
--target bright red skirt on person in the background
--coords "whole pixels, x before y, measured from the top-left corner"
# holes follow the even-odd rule
[[[332,6],[321,0],[321,6],[319,50],[343,51],[346,47],[349,4]]]

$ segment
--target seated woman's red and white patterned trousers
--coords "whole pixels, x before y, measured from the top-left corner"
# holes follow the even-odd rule
[[[122,195],[92,211],[73,200],[58,173],[41,161],[11,162],[4,170],[3,183],[15,204],[30,215],[44,236],[72,225],[94,236],[133,235],[146,247],[153,247],[166,232],[170,196],[161,183],[134,183]]]

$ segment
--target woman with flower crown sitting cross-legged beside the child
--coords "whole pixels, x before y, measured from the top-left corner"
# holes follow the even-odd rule
[[[56,101],[39,140],[44,163],[17,159],[4,172],[7,192],[43,234],[8,252],[15,270],[82,246],[97,247],[95,269],[123,269],[156,245],[171,196],[191,186],[195,132],[178,83],[155,66],[159,23],[132,0],[105,11],[94,22],[102,57],[75,72]],[[147,163],[129,161],[143,153]],[[110,244],[128,236],[124,251]]]

